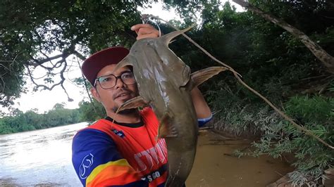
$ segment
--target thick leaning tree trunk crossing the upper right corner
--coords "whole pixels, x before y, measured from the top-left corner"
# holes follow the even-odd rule
[[[261,15],[262,18],[265,18],[266,20],[270,20],[271,22],[275,23],[276,25],[282,27],[287,32],[290,32],[293,36],[297,37],[302,41],[302,43],[307,46],[307,48],[318,58],[318,60],[321,61],[321,63],[326,67],[328,72],[334,74],[334,58],[333,56],[330,56],[325,50],[321,48],[316,42],[312,41],[304,32],[297,30],[297,28],[293,27],[292,25],[288,24],[284,20],[280,20],[279,18],[276,18],[276,16],[264,13],[259,8],[256,8],[255,6],[252,6],[252,4],[249,4],[246,1],[243,0],[233,0],[236,4],[239,4],[240,6],[244,6],[245,8],[249,9],[250,11],[253,11],[254,13],[257,13]]]

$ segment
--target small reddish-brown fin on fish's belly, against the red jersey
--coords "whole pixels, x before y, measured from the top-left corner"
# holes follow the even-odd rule
[[[171,124],[171,115],[166,113],[160,120],[159,129],[158,129],[158,138],[171,138],[177,137],[178,131]]]

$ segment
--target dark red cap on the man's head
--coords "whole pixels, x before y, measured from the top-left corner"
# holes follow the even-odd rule
[[[120,60],[123,60],[123,58],[128,55],[128,53],[128,49],[120,46],[98,51],[84,61],[82,64],[82,73],[85,75],[90,84],[94,85],[97,73],[103,67],[119,63]]]

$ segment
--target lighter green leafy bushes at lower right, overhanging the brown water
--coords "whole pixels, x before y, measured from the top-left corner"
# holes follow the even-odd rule
[[[285,112],[316,136],[330,144],[334,143],[333,98],[294,96],[285,103]],[[261,140],[253,143],[252,146],[256,148],[254,152],[237,152],[238,155],[283,157],[286,153],[293,153],[295,162],[292,165],[296,170],[290,177],[298,186],[304,183],[316,185],[323,170],[334,164],[333,150],[295,129],[289,122],[280,120],[266,128]]]

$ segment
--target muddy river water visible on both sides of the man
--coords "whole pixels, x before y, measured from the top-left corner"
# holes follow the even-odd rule
[[[71,163],[71,143],[87,124],[0,135],[0,186],[81,186]],[[266,186],[292,171],[270,157],[233,157],[247,141],[220,141],[201,132],[189,186]],[[214,141],[213,141],[214,140]]]

